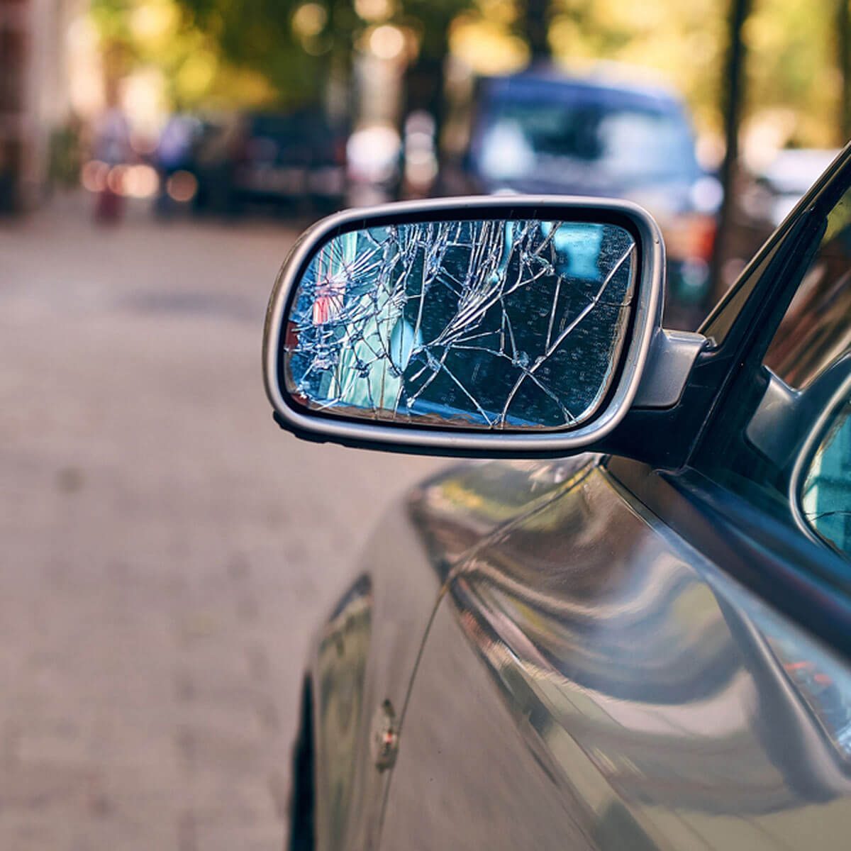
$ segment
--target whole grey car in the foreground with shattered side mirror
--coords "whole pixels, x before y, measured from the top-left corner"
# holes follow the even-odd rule
[[[661,325],[633,203],[302,237],[278,425],[468,460],[397,500],[319,627],[290,848],[847,847],[849,278],[851,146],[697,332]]]

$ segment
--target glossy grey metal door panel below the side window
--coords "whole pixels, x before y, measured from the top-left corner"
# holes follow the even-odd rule
[[[602,467],[446,589],[381,848],[844,847],[843,666]]]

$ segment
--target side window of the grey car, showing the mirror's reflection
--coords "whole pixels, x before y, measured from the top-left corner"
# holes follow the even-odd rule
[[[837,195],[753,329],[694,466],[851,562],[851,190]]]

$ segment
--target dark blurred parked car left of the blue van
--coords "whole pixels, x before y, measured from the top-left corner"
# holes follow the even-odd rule
[[[327,214],[346,198],[346,131],[320,111],[249,112],[208,121],[195,151],[197,208],[246,204]]]

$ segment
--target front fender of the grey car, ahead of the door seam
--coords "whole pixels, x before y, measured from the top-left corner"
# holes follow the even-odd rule
[[[388,700],[401,717],[452,565],[563,492],[596,457],[460,465],[414,488],[383,518],[311,652],[317,848],[377,842],[389,774],[371,752],[376,716]]]

